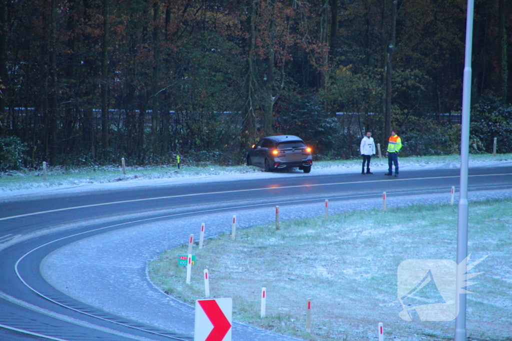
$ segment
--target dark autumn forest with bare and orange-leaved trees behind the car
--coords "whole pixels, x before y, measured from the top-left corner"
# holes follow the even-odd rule
[[[512,151],[512,6],[475,0],[471,151]],[[0,0],[0,170],[458,153],[466,0]]]

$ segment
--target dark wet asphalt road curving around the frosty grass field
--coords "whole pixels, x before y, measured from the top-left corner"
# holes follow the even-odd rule
[[[258,178],[258,174],[254,175]],[[158,330],[78,302],[42,278],[41,260],[73,241],[145,219],[280,207],[297,203],[449,193],[459,171],[382,174],[290,174],[275,179],[137,188],[0,202],[0,339],[2,340],[168,340],[192,339]],[[512,189],[512,168],[471,169],[470,191]],[[73,229],[67,226],[74,226]],[[70,237],[71,236],[71,237]]]

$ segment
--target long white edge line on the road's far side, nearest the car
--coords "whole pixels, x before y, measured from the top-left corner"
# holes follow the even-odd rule
[[[470,175],[469,177],[507,176],[507,175],[512,175],[512,173],[504,173],[504,174],[478,174],[478,175]],[[141,201],[151,201],[151,200],[160,200],[160,199],[172,199],[172,198],[191,197],[191,196],[200,196],[200,195],[214,195],[214,194],[227,194],[227,193],[268,191],[268,190],[302,188],[302,187],[321,187],[321,186],[335,186],[335,185],[383,183],[383,182],[386,182],[386,181],[411,181],[411,180],[450,179],[450,178],[458,178],[458,177],[460,177],[460,175],[415,177],[415,178],[409,178],[409,179],[398,178],[398,179],[382,179],[382,180],[366,180],[366,181],[349,181],[349,182],[343,182],[343,183],[293,185],[293,186],[282,186],[282,187],[252,188],[252,189],[245,189],[245,190],[231,190],[231,191],[218,191],[218,192],[204,192],[204,193],[168,195],[168,196],[160,196],[160,197],[153,197],[153,198],[143,198],[143,199],[131,199],[131,200],[120,200],[120,201],[93,203],[93,204],[89,204],[89,205],[65,207],[65,208],[55,209],[55,210],[48,210],[48,211],[39,211],[39,212],[32,212],[32,213],[26,213],[26,214],[19,214],[19,215],[15,215],[15,216],[0,218],[0,221],[8,220],[8,219],[14,219],[14,218],[34,216],[34,215],[39,215],[39,214],[46,214],[46,213],[70,211],[70,210],[83,209],[83,208],[91,208],[91,207],[98,207],[98,206],[107,206],[107,205],[113,205],[113,204],[117,204],[117,203],[141,202]]]

